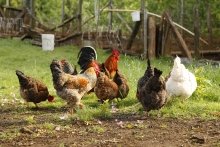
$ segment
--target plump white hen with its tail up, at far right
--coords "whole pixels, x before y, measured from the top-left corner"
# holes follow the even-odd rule
[[[189,98],[196,90],[196,77],[181,64],[181,59],[177,56],[174,60],[173,69],[166,82],[166,90],[170,97]]]

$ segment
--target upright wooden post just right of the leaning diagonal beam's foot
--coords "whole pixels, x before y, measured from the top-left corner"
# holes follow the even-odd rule
[[[195,48],[195,58],[200,59],[199,53],[199,20],[198,20],[198,8],[194,7],[194,48]]]

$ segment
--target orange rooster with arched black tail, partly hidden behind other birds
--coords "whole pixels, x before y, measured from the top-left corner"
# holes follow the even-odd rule
[[[118,69],[119,56],[119,52],[113,49],[112,54],[106,59],[106,61],[100,64],[97,62],[96,50],[91,46],[85,46],[82,47],[78,53],[77,57],[79,60],[77,63],[80,65],[81,72],[84,72],[87,68],[95,65],[95,68],[99,67],[101,71],[106,71],[109,73],[109,77],[113,78]]]

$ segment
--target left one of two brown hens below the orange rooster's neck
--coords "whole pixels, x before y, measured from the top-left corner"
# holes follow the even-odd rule
[[[111,81],[104,72],[99,72],[94,92],[102,103],[105,100],[112,100],[118,95],[118,86]]]

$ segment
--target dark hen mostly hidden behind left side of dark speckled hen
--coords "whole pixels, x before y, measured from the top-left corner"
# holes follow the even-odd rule
[[[139,91],[141,90],[141,88],[147,83],[148,79],[150,77],[152,77],[154,75],[154,70],[153,68],[151,68],[150,65],[150,60],[147,60],[147,69],[145,70],[144,75],[139,78],[138,83],[137,83],[137,93],[136,93],[136,97],[139,97]]]

